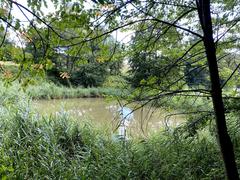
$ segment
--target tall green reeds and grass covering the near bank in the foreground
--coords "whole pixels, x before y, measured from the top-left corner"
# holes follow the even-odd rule
[[[44,91],[45,86],[52,89],[47,88],[50,90]],[[38,92],[33,89],[31,92],[37,94],[42,92],[42,95],[38,96],[41,98],[53,97],[44,95],[48,92],[56,93],[53,86],[46,84],[45,86],[41,86],[42,89],[37,87]],[[62,88],[61,91],[63,90],[65,89]],[[192,137],[187,137],[187,132],[176,131],[179,132],[176,134],[175,131],[160,131],[146,138],[116,141],[112,139],[110,132],[94,127],[87,119],[80,122],[64,112],[56,117],[43,117],[32,112],[26,92],[18,92],[16,87],[10,87],[7,91],[2,88],[0,91],[2,178],[224,179],[225,177],[215,133],[209,131],[208,126],[199,129],[198,135]],[[236,133],[239,122],[237,118],[232,119],[230,125],[233,128],[230,133],[240,165],[240,134]]]

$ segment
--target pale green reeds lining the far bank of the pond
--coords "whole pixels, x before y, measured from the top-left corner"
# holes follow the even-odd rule
[[[19,65],[11,61],[0,61],[0,67],[1,66],[4,67],[6,72],[11,74],[17,74],[19,71]],[[4,73],[2,72],[0,73],[0,80],[2,81],[0,86],[4,87],[3,82],[5,82],[7,87],[23,90],[25,91],[24,93],[32,99],[104,98],[106,96],[125,97],[128,94],[127,91],[122,90],[122,86],[125,86],[125,81],[119,76],[110,76],[102,86],[89,88],[82,86],[69,87],[56,84],[51,80],[47,80],[47,77],[24,80],[27,83],[18,83],[16,81],[8,83],[4,81]],[[6,89],[6,91],[8,91],[8,89]]]

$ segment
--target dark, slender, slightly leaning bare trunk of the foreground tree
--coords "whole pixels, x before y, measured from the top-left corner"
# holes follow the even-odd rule
[[[216,47],[213,40],[210,0],[196,0],[198,15],[204,33],[203,42],[206,50],[211,79],[211,96],[216,118],[217,135],[221,149],[225,171],[229,180],[238,180],[238,170],[235,162],[233,144],[227,131],[222,89],[220,84]]]

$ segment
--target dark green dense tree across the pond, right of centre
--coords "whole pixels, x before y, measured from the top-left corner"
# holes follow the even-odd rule
[[[154,27],[156,28],[156,26]],[[129,50],[129,63],[130,63],[130,74],[132,75],[130,81],[133,87],[151,86],[152,89],[164,88],[168,85],[169,77],[173,80],[174,76],[179,76],[180,69],[176,66],[175,68],[168,69],[166,66],[172,61],[174,55],[171,58],[167,56],[167,48],[165,48],[164,42],[162,45],[154,47],[152,44],[154,40],[151,40],[151,35],[154,28],[151,24],[142,25],[140,24],[132,38],[132,42]],[[171,30],[172,37],[176,37],[179,33],[176,29]],[[152,38],[153,39],[153,38]],[[147,42],[147,43],[146,43]],[[168,41],[169,45],[171,44]],[[178,48],[179,45],[172,46]],[[166,76],[166,71],[169,70]]]

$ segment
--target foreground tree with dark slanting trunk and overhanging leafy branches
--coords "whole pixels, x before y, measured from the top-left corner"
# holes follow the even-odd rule
[[[19,3],[9,0],[4,3],[12,3],[19,6]],[[56,4],[58,1],[54,1]],[[56,34],[64,41],[65,46],[81,47],[82,45],[95,41],[103,40],[104,36],[108,36],[118,29],[131,29],[134,31],[148,30],[146,37],[143,36],[144,47],[138,47],[138,55],[150,55],[150,52],[156,52],[160,49],[161,54],[167,57],[167,63],[163,64],[164,83],[156,87],[156,91],[147,94],[140,99],[146,103],[161,99],[166,96],[207,96],[211,98],[213,111],[216,120],[217,135],[219,147],[221,149],[223,161],[225,164],[226,175],[228,179],[239,179],[237,166],[235,163],[233,145],[229,137],[225,107],[223,103],[222,90],[225,85],[234,76],[239,68],[239,64],[234,67],[233,72],[221,84],[219,64],[227,57],[227,50],[237,48],[240,4],[238,1],[219,1],[214,0],[161,0],[161,1],[110,1],[99,0],[91,9],[92,19],[89,33],[83,38],[72,36],[69,38],[62,37],[52,28],[49,23],[46,23],[40,18],[39,14],[32,13],[38,21],[44,24],[51,32]],[[29,1],[33,12],[39,9],[37,1]],[[66,2],[63,1],[65,5]],[[37,11],[39,12],[39,11]],[[95,15],[94,15],[95,14]],[[10,24],[2,19],[6,24]],[[104,28],[99,33],[94,33],[99,27]],[[149,32],[150,31],[150,32]],[[163,47],[166,46],[167,47]],[[225,49],[225,50],[224,50]],[[199,63],[201,69],[208,68],[210,77],[210,89],[186,88],[184,78],[184,66]],[[161,64],[162,65],[162,64]],[[178,76],[172,76],[178,70]],[[188,74],[189,72],[187,72]],[[163,78],[161,78],[163,79]],[[144,83],[154,85],[155,79]],[[147,87],[151,88],[151,86]],[[142,92],[142,91],[140,91]],[[198,94],[196,94],[196,92]]]

